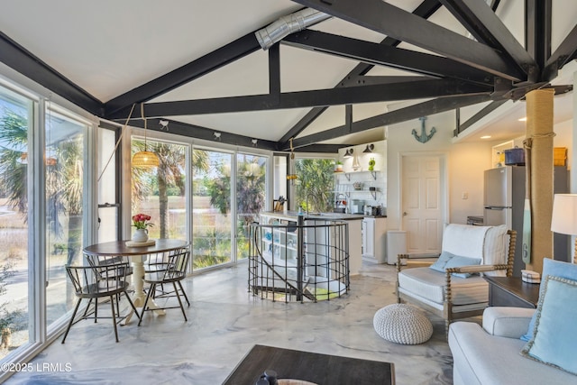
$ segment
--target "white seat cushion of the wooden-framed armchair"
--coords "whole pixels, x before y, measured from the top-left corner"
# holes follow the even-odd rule
[[[437,304],[444,302],[445,275],[428,267],[401,270],[398,273],[398,286],[421,298]],[[489,301],[488,283],[480,276],[469,279],[453,278],[451,291],[453,305],[487,303]]]

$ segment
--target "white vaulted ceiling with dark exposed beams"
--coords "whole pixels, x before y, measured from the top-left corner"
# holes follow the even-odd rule
[[[303,9],[316,23],[281,33]],[[532,89],[572,95],[575,21],[572,0],[3,0],[0,61],[106,121],[335,151],[427,115],[495,130]]]

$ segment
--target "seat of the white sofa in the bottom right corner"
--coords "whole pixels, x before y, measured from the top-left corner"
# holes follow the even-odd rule
[[[572,374],[519,354],[523,341],[489,335],[476,323],[454,322],[448,338],[454,385],[575,383]]]

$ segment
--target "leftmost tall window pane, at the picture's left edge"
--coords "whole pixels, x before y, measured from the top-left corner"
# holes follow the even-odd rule
[[[0,333],[10,340],[0,358],[33,336],[28,302],[32,116],[31,100],[0,87]]]

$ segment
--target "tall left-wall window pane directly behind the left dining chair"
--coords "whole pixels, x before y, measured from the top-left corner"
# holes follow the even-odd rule
[[[76,301],[65,265],[83,263],[88,127],[50,109],[45,119],[46,318],[50,325]]]

